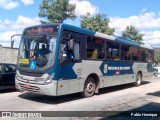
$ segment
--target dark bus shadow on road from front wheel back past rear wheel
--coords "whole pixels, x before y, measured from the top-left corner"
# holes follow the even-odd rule
[[[150,83],[149,81],[143,81],[141,86],[149,84],[149,83]],[[129,88],[132,88],[132,87],[135,87],[135,85],[133,83],[102,88],[102,89],[100,89],[99,94],[106,94],[106,93],[119,91],[119,90],[123,90],[123,89],[129,89]]]

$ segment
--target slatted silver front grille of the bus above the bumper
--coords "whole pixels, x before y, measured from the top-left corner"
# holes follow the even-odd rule
[[[19,86],[21,87],[22,90],[27,90],[30,92],[38,92],[39,91],[39,87],[36,86],[32,86],[30,85],[30,87],[24,87],[25,84],[19,83]]]

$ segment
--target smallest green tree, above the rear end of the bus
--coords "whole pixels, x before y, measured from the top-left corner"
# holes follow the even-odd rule
[[[134,26],[127,26],[124,31],[122,31],[122,37],[128,38],[131,40],[135,40],[140,44],[144,44],[142,42],[142,37],[144,34],[139,33],[139,31]]]

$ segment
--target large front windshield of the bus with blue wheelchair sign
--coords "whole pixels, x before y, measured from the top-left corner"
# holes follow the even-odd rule
[[[54,65],[57,37],[46,35],[22,37],[18,66],[30,70],[46,70]]]

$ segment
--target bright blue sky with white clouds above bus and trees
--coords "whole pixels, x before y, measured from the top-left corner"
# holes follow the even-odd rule
[[[10,46],[11,36],[21,34],[28,26],[40,24],[39,5],[42,0],[0,0],[0,44]],[[160,47],[159,0],[69,0],[76,4],[75,20],[64,23],[80,26],[80,16],[90,12],[106,14],[115,35],[121,36],[126,26],[135,26],[143,33],[145,45]],[[18,45],[18,41],[17,41]]]

